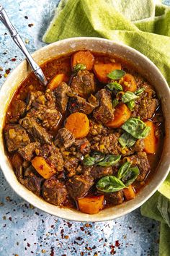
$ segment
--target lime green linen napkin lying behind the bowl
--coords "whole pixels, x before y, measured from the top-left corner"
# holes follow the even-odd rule
[[[170,85],[170,7],[161,0],[61,0],[42,40],[53,43],[79,36],[107,38],[137,49]],[[159,255],[169,256],[170,174],[141,213],[161,221]]]

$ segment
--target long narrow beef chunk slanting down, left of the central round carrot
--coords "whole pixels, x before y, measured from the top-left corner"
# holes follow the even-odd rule
[[[19,120],[19,124],[30,133],[35,141],[40,142],[42,145],[45,143],[51,144],[53,136],[48,134],[45,128],[41,127],[40,124],[37,124],[35,119],[26,116],[24,119]]]

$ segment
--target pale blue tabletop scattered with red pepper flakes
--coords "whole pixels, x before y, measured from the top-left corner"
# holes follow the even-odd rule
[[[42,34],[56,0],[1,0],[30,52],[41,48]],[[170,4],[169,0],[165,1]],[[0,24],[0,86],[23,55]],[[1,159],[1,156],[0,156]],[[22,200],[0,170],[0,256],[158,255],[159,223],[135,210],[115,221],[76,223],[50,216]]]

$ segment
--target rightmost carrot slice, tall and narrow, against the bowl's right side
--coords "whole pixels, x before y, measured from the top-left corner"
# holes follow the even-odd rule
[[[151,128],[151,130],[148,136],[146,136],[146,138],[144,139],[144,145],[145,145],[144,150],[146,151],[146,153],[154,154],[156,153],[156,146],[157,146],[157,138],[155,135],[155,125],[153,124],[153,121],[145,121],[145,123],[147,127]]]

